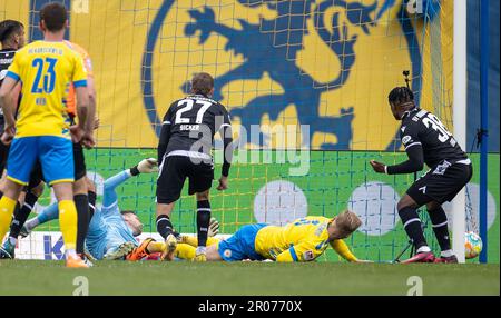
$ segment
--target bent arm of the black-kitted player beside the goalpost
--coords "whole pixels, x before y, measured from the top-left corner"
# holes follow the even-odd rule
[[[420,141],[416,125],[407,126],[404,133],[401,132],[401,138],[409,159],[395,166],[386,166],[382,162],[371,160],[371,166],[374,171],[387,175],[404,175],[423,170],[423,147]]]

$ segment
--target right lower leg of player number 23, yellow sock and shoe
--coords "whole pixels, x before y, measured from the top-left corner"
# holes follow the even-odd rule
[[[87,268],[88,266],[77,256],[77,207],[73,201],[73,187],[70,182],[55,183],[53,192],[58,200],[59,227],[66,248],[66,266]]]

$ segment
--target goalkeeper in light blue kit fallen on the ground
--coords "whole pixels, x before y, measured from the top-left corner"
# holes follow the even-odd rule
[[[164,242],[146,239],[141,244],[136,237],[143,232],[143,223],[134,211],[120,211],[118,197],[115,189],[126,180],[139,173],[158,171],[156,159],[141,160],[137,166],[121,171],[105,181],[102,207],[95,208],[96,190],[88,180],[89,186],[89,210],[92,215],[89,231],[86,237],[86,247],[95,259],[128,259],[140,260],[150,254],[165,251]],[[59,217],[58,206],[52,205],[45,209],[36,218],[30,219],[21,231],[27,236],[35,227]]]

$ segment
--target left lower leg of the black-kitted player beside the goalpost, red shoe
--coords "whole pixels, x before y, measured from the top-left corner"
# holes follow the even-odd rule
[[[402,219],[403,227],[409,238],[414,244],[416,255],[405,261],[406,262],[433,262],[434,256],[426,244],[424,238],[423,228],[421,226],[421,219],[416,209],[419,205],[409,196],[404,195],[397,206],[399,216]]]

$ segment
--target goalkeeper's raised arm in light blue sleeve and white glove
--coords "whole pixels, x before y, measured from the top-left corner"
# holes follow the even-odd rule
[[[155,172],[157,170],[156,167],[157,160],[147,158],[139,161],[137,166],[106,179],[104,185],[105,193],[102,198],[102,212],[105,212],[105,210],[110,210],[111,207],[118,203],[118,196],[115,191],[118,186],[127,181],[130,177],[138,176],[139,173]]]

